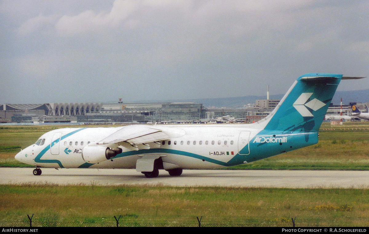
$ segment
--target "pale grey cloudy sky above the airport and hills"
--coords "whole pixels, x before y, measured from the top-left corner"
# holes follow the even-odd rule
[[[284,94],[368,76],[368,0],[0,0],[0,104]]]

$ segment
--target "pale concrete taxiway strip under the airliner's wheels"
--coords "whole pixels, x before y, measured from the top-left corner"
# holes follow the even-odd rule
[[[158,178],[146,178],[135,169],[0,168],[0,184],[56,185],[161,185],[279,188],[369,188],[369,171],[267,171],[267,170],[183,170],[169,176],[159,170]]]

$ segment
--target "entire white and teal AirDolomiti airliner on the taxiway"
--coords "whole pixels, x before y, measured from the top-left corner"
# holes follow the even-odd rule
[[[246,164],[318,142],[318,130],[342,77],[300,76],[275,110],[252,124],[129,125],[62,128],[49,131],[15,159],[44,168],[132,168],[148,178],[159,169],[179,176],[182,169]]]

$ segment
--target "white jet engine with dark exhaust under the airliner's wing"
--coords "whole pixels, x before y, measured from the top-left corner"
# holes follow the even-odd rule
[[[96,164],[99,162],[103,162],[110,158],[113,158],[120,154],[122,149],[117,148],[108,148],[103,146],[86,146],[82,150],[82,158],[85,162],[89,162],[92,164]]]

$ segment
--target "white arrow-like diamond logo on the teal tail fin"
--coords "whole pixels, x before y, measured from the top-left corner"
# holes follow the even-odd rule
[[[292,104],[292,106],[301,114],[302,117],[314,117],[314,115],[306,107],[309,107],[313,111],[317,111],[325,106],[325,103],[316,98],[308,101],[311,95],[313,95],[313,93],[301,93],[300,97]]]

